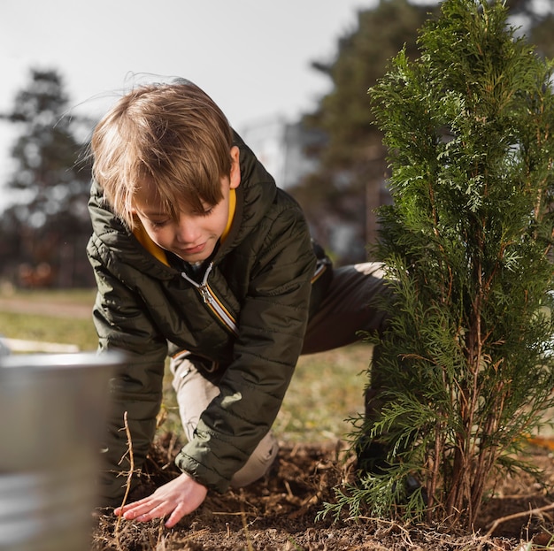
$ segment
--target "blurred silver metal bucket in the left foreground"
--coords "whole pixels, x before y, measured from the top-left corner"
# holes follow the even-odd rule
[[[108,381],[123,356],[0,357],[0,550],[86,551]]]

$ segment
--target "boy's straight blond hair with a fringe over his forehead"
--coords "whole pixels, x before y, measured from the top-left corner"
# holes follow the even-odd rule
[[[182,203],[198,212],[219,203],[232,145],[227,118],[202,89],[189,80],[147,84],[119,99],[96,126],[93,176],[130,228],[135,193],[145,183],[176,219]]]

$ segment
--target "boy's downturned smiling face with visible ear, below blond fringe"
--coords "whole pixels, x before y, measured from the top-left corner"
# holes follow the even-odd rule
[[[223,199],[216,205],[205,205],[196,212],[181,204],[179,220],[175,221],[162,209],[155,189],[144,186],[135,196],[135,215],[141,220],[150,239],[183,260],[196,263],[212,255],[229,218],[229,190],[241,183],[239,149],[231,149],[231,173],[221,179]]]

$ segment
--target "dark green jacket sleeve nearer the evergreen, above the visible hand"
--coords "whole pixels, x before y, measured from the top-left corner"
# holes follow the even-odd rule
[[[219,492],[273,425],[308,320],[315,256],[304,216],[295,206],[280,211],[270,226],[258,243],[233,362],[219,382],[219,397],[176,458],[182,471]]]

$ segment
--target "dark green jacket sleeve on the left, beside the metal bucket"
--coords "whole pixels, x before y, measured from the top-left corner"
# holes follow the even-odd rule
[[[127,357],[121,371],[110,381],[111,410],[102,449],[99,498],[103,505],[115,506],[125,494],[129,448],[134,468],[139,470],[156,431],[167,345],[150,322],[140,296],[113,272],[117,263],[106,260],[111,253],[104,250],[101,254],[102,248],[104,245],[93,235],[88,242],[88,258],[98,288],[93,314],[99,351],[123,350]]]

